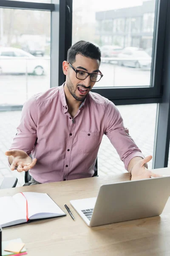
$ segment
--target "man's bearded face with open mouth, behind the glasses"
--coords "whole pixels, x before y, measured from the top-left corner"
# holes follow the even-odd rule
[[[99,73],[99,60],[87,58],[80,54],[76,55],[76,61],[71,63],[75,69],[88,73]],[[71,68],[67,61],[63,62],[63,72],[66,75],[66,85],[69,92],[78,101],[84,101],[89,91],[94,87],[90,76],[85,80],[77,79],[76,72]]]

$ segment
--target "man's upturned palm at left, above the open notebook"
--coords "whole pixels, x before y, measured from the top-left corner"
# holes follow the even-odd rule
[[[9,156],[9,162],[11,163],[11,171],[14,171],[17,167],[18,172],[27,172],[33,168],[37,162],[37,159],[31,159],[28,154],[20,149],[9,150],[5,152],[6,156]]]

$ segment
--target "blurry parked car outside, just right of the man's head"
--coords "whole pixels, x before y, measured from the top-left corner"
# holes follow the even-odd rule
[[[103,45],[100,49],[102,57],[105,58],[117,57],[117,55],[122,51],[122,47],[119,45]]]

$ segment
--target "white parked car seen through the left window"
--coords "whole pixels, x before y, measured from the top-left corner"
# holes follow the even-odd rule
[[[45,73],[45,60],[21,49],[0,47],[1,73],[28,73],[42,76]]]

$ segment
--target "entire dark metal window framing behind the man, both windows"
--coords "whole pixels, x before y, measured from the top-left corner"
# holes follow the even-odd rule
[[[92,91],[105,96],[115,105],[159,103],[153,167],[166,167],[170,144],[170,3],[157,0],[153,32],[152,87],[103,87]],[[65,82],[62,61],[72,44],[73,0],[31,3],[1,0],[0,8],[51,11],[51,87]],[[169,16],[168,16],[169,15]],[[169,17],[169,18],[168,18]],[[23,106],[1,107],[1,111],[21,110]],[[149,125],[149,124],[146,124]]]

